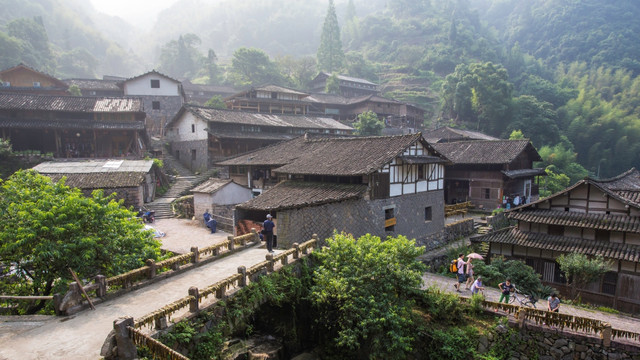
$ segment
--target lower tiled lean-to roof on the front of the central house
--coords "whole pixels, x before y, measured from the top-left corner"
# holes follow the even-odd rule
[[[238,205],[247,210],[275,211],[334,203],[361,198],[367,190],[362,184],[330,184],[284,181],[262,195]]]

